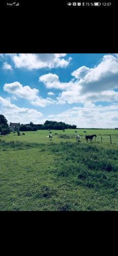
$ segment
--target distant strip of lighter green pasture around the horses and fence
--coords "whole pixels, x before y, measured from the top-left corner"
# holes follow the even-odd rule
[[[57,131],[57,130],[52,130],[52,135],[53,135],[53,140],[50,143],[60,143],[61,141],[65,141],[67,142],[68,140],[70,142],[75,142],[75,136],[76,133],[75,131],[77,131],[77,134],[79,134],[81,136],[81,142],[82,143],[86,143],[85,140],[85,135],[92,135],[92,134],[96,134],[97,138],[96,138],[96,144],[101,143],[101,136],[102,136],[102,145],[103,146],[109,146],[110,145],[110,137],[109,135],[111,135],[112,138],[112,143],[113,145],[117,147],[118,145],[118,130],[110,130],[110,129],[77,129],[77,130],[73,130],[73,129],[67,129],[65,130],[65,132],[63,131]],[[84,133],[84,131],[86,131],[86,133]],[[57,133],[57,135],[55,135],[55,133]],[[20,132],[20,134],[22,134],[22,132]],[[5,140],[7,142],[10,141],[19,141],[19,142],[29,142],[29,143],[49,143],[49,138],[46,137],[49,135],[49,131],[48,130],[40,130],[40,131],[36,131],[36,132],[25,132],[25,136],[21,135],[21,136],[17,136],[17,134],[13,134],[10,133],[10,135],[4,136],[4,137],[0,137],[0,139]],[[63,138],[60,137],[60,135],[65,135]],[[68,138],[66,137],[68,136]],[[104,142],[105,141],[105,142]],[[95,138],[93,138],[93,143],[95,142]],[[105,144],[105,145],[104,145]]]

